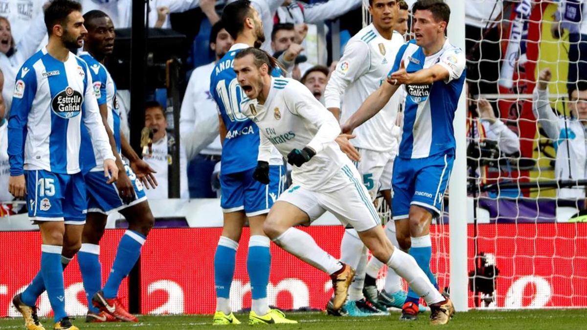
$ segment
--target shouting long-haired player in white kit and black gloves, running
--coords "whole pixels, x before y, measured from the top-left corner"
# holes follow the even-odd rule
[[[340,309],[354,271],[322,250],[309,234],[294,228],[328,210],[341,223],[352,225],[373,256],[416,288],[431,308],[433,324],[445,324],[454,313],[452,302],[434,288],[413,258],[393,248],[385,236],[359,173],[335,142],[340,133],[335,117],[301,83],[272,78],[275,65],[274,58],[255,48],[241,50],[234,60],[238,83],[248,97],[241,111],[261,132],[259,160],[268,161],[273,144],[294,166],[293,184],[269,211],[265,234],[279,247],[330,274],[333,308]]]

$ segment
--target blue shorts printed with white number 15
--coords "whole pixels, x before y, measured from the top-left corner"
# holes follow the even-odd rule
[[[30,170],[25,171],[25,175],[31,221],[86,223],[86,187],[82,173]]]

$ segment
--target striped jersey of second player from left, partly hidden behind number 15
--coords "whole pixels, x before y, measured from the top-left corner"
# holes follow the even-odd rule
[[[92,87],[96,94],[98,105],[106,104],[108,109],[107,123],[114,135],[116,150],[120,154],[120,109],[116,100],[116,84],[112,76],[102,63],[98,62],[88,52],[81,52],[79,57],[86,61],[92,76]],[[82,170],[102,171],[103,160],[100,153],[92,146],[90,134],[82,127]]]

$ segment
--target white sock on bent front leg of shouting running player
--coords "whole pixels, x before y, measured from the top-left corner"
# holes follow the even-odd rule
[[[289,228],[273,241],[285,251],[328,274],[333,274],[342,267],[340,261],[322,250],[311,235],[294,227]]]

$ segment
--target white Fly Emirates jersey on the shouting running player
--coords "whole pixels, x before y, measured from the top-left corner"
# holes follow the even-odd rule
[[[271,78],[265,104],[246,98],[241,112],[259,126],[259,160],[269,160],[272,144],[284,157],[294,149],[311,147],[316,155],[301,167],[293,166],[294,184],[313,191],[340,188],[330,179],[345,164],[353,165],[335,142],[339,123],[306,86],[294,79]]]

